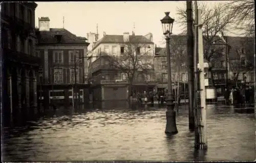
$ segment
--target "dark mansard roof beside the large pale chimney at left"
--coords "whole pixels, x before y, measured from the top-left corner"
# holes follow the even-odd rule
[[[50,28],[50,31],[37,31],[38,44],[84,44],[89,45],[84,40],[85,37],[77,37],[63,28]],[[61,42],[57,42],[55,35],[62,35]]]

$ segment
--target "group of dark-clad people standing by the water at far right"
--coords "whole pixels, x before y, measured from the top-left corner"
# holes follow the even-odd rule
[[[254,90],[251,87],[234,87],[225,90],[225,101],[227,104],[245,105],[254,102]]]

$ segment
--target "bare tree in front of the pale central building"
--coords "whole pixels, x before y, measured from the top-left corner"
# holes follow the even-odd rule
[[[117,71],[126,74],[127,81],[129,82],[129,94],[131,94],[133,83],[138,74],[146,75],[146,73],[154,72],[153,48],[153,44],[126,42],[123,53],[121,52],[120,55],[106,54],[104,56],[108,61],[107,64]]]

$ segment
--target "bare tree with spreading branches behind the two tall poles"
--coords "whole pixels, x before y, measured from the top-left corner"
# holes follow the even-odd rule
[[[204,58],[211,62],[212,58],[218,57],[219,50],[212,53],[212,49],[218,49],[216,43],[222,41],[221,33],[228,30],[232,24],[233,15],[227,10],[225,4],[217,4],[213,8],[209,8],[206,4],[201,3],[198,6],[201,9],[202,30],[204,41]],[[194,17],[195,17],[195,10]],[[178,24],[183,28],[183,33],[186,33],[186,9],[178,8]],[[195,21],[194,21],[195,22]]]

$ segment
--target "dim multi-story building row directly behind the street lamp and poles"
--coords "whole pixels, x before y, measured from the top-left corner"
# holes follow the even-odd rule
[[[186,35],[172,35],[170,40],[170,55],[171,55],[171,70],[172,70],[172,84],[185,84],[187,87],[187,36]],[[209,68],[205,72],[205,78],[208,79],[207,85],[212,85],[213,75],[222,78],[225,84],[226,73],[226,57],[225,57],[225,42],[216,37],[215,41],[210,46],[207,46],[207,41],[204,40],[204,53],[209,54]],[[156,48],[155,50],[155,75],[157,80],[158,90],[167,88],[167,61],[166,49]],[[218,56],[218,57],[217,57]],[[208,60],[204,60],[205,63]],[[208,63],[207,63],[208,64]],[[222,74],[224,76],[222,76]],[[219,79],[219,78],[217,78]],[[216,85],[218,85],[217,83]],[[215,85],[215,86],[216,86]],[[184,87],[182,87],[183,89]]]

